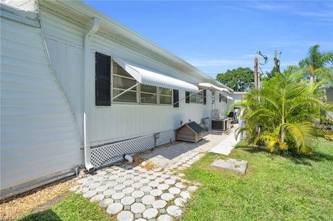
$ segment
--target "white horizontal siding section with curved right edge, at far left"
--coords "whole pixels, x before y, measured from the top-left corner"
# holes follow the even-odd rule
[[[1,191],[83,162],[40,34],[1,17]]]

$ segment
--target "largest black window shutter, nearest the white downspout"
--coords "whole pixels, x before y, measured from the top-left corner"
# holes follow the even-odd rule
[[[111,105],[111,57],[95,54],[95,103],[96,106]]]

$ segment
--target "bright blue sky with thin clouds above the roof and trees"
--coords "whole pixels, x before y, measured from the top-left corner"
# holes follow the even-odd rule
[[[198,67],[216,73],[253,69],[256,51],[282,51],[281,67],[297,64],[309,46],[333,50],[333,1],[85,1],[112,19]]]

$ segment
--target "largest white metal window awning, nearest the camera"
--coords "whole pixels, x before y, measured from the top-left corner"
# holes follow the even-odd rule
[[[132,62],[126,62],[119,58],[112,58],[114,62],[117,62],[125,71],[127,71],[137,82],[144,85],[151,85],[155,87],[165,87],[169,89],[185,89],[190,92],[198,92],[199,89],[196,85],[192,85],[183,80],[164,76],[161,73],[155,73],[133,65]]]

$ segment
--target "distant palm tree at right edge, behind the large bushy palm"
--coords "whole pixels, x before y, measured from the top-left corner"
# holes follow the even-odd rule
[[[324,80],[326,83],[332,83],[332,67],[327,64],[333,64],[333,52],[320,52],[319,44],[309,48],[308,56],[299,62],[301,68],[305,69],[305,74],[311,82]]]

